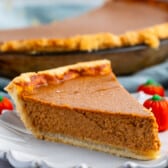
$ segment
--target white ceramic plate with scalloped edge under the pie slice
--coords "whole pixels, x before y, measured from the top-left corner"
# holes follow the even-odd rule
[[[140,102],[148,95],[133,94]],[[161,168],[168,165],[168,131],[159,133],[161,157],[137,161],[79,147],[38,140],[27,131],[17,113],[4,111],[0,116],[0,158],[17,168]]]

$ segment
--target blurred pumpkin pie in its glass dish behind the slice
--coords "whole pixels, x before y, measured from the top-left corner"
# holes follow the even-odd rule
[[[167,58],[167,13],[164,1],[109,0],[76,18],[0,31],[0,73],[11,78],[104,58],[117,75],[136,72]]]

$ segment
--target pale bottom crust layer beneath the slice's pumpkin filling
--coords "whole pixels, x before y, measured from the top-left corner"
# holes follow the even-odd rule
[[[136,150],[131,151],[130,149],[127,149],[125,147],[105,145],[90,139],[87,139],[87,140],[78,139],[78,138],[70,137],[63,134],[51,134],[51,133],[42,133],[42,132],[35,131],[34,135],[39,139],[44,139],[52,142],[61,142],[64,144],[70,144],[78,147],[85,147],[90,150],[101,151],[105,153],[114,154],[116,156],[124,156],[127,158],[134,158],[138,160],[152,160],[152,159],[156,159],[159,156],[158,151],[157,152],[145,151],[140,153],[139,151],[136,151]]]

